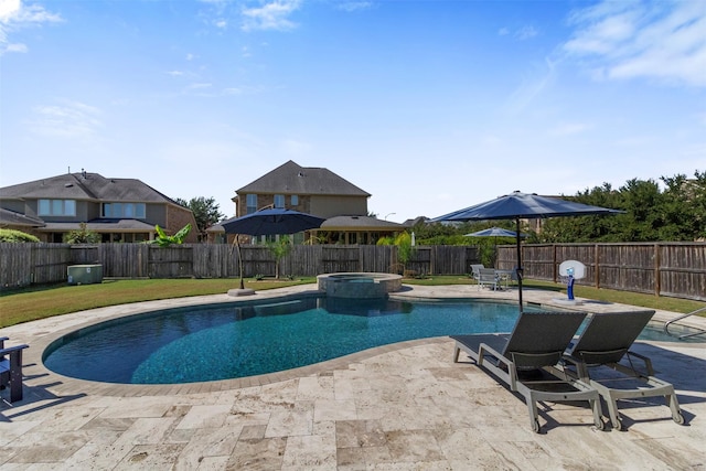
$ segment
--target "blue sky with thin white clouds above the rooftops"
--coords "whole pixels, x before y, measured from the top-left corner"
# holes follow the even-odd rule
[[[0,186],[293,160],[403,222],[706,171],[706,1],[0,0]]]

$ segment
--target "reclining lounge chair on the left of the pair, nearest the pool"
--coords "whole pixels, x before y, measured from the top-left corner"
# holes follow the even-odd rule
[[[512,333],[452,335],[453,361],[461,351],[479,367],[490,371],[510,390],[524,396],[530,424],[539,432],[537,402],[588,400],[596,428],[602,430],[600,396],[581,381],[567,377],[556,368],[566,346],[586,318],[584,312],[523,312]]]

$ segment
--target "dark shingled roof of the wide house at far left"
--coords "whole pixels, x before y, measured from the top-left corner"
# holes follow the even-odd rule
[[[137,179],[107,179],[98,173],[65,173],[0,189],[3,200],[98,200],[140,203],[175,201]]]

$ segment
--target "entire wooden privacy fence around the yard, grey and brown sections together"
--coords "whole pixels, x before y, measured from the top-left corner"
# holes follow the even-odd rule
[[[706,300],[706,243],[523,245],[526,278],[559,282],[564,260],[586,265],[579,285]],[[275,257],[263,246],[240,247],[244,276],[274,276]],[[0,288],[66,281],[71,265],[100,264],[106,278],[235,278],[237,251],[226,244],[0,244]],[[422,275],[464,275],[480,256],[475,246],[418,246],[405,268]],[[498,267],[516,265],[515,246],[498,247]],[[395,272],[397,247],[297,245],[279,274]]]

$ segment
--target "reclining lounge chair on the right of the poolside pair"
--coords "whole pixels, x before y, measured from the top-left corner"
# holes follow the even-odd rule
[[[654,376],[650,358],[629,350],[653,314],[652,310],[592,314],[564,356],[567,366],[576,367],[577,377],[600,393],[617,430],[622,428],[618,399],[627,398],[664,396],[674,421],[684,424],[674,386]],[[635,365],[638,360],[642,370]]]

